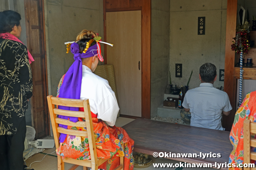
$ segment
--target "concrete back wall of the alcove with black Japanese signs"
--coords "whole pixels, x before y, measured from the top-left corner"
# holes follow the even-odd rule
[[[205,35],[197,35],[197,19],[205,17]],[[226,41],[227,0],[170,0],[170,72],[172,84],[198,87],[199,68],[204,63],[224,69]],[[231,45],[231,44],[230,44]],[[175,78],[175,63],[182,63],[182,78]]]

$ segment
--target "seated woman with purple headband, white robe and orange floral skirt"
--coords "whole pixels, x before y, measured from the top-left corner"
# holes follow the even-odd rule
[[[98,65],[98,58],[103,62],[100,50],[100,37],[92,31],[83,30],[76,42],[68,42],[67,49],[74,54],[75,62],[67,73],[62,76],[57,97],[69,99],[89,99],[92,114],[93,130],[98,158],[108,159],[99,168],[115,169],[120,165],[120,156],[124,156],[124,170],[132,170],[134,141],[121,127],[116,127],[116,117],[119,111],[115,93],[108,81],[93,72]],[[67,53],[68,53],[67,51]],[[78,111],[75,107],[60,109]],[[79,111],[84,111],[79,108]],[[83,118],[60,116],[62,119],[77,122]],[[107,122],[107,126],[103,121]],[[84,127],[59,125],[66,129],[85,130]],[[124,144],[122,148],[121,144]],[[91,159],[87,137],[60,134],[60,147],[56,150],[62,157],[73,159]]]

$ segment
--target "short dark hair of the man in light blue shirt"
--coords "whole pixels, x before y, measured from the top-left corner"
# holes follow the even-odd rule
[[[217,75],[216,66],[212,63],[205,63],[200,67],[199,74],[205,83],[212,83]]]

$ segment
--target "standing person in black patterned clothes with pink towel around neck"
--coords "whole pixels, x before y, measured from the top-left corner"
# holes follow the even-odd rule
[[[0,12],[0,169],[23,170],[26,137],[25,112],[32,96],[34,61],[18,39],[20,14]]]

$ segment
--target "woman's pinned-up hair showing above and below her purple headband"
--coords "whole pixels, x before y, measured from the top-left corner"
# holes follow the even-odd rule
[[[90,41],[91,39],[93,39],[94,37],[98,37],[97,33],[93,32],[93,31],[88,31],[88,30],[83,30],[81,33],[79,33],[76,37],[76,43],[79,45],[79,50],[80,53],[82,54],[84,51],[84,48],[86,48],[86,42]],[[95,45],[96,42],[93,41],[92,44],[90,45],[93,46]],[[88,61],[90,60],[91,57],[88,58],[82,58],[82,63],[86,64],[88,63]]]

